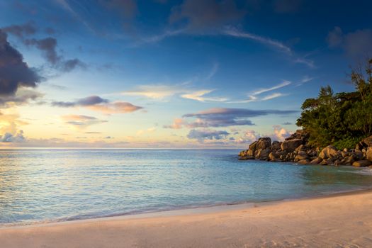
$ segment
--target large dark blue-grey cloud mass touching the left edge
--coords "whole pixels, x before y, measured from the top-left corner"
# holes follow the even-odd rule
[[[35,87],[41,81],[35,69],[23,62],[23,56],[12,47],[0,29],[0,96],[16,93],[18,87]]]

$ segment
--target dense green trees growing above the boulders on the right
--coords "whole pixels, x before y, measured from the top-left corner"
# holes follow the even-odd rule
[[[334,94],[330,86],[322,87],[317,98],[303,102],[297,120],[310,133],[309,143],[317,147],[335,145],[354,148],[362,137],[372,135],[372,60],[362,69],[351,72],[355,92]]]

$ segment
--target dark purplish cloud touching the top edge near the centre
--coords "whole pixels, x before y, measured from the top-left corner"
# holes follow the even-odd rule
[[[189,31],[203,31],[235,23],[244,16],[233,0],[186,0],[175,6],[169,16],[170,23],[185,23]]]

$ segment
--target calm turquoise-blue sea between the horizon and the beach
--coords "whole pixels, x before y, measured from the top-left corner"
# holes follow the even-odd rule
[[[0,223],[319,196],[370,169],[239,161],[236,150],[0,150]]]

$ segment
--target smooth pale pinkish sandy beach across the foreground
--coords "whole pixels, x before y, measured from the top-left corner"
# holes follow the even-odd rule
[[[372,191],[3,227],[1,247],[371,247]]]

